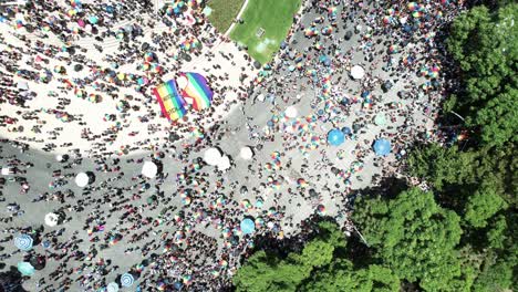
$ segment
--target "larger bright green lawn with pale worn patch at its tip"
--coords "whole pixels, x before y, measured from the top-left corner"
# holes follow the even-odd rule
[[[248,53],[261,64],[268,63],[288,35],[301,0],[249,0],[230,38],[248,46]],[[259,29],[265,33],[258,38]]]

